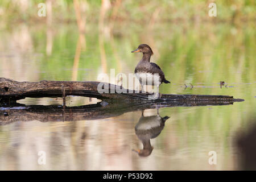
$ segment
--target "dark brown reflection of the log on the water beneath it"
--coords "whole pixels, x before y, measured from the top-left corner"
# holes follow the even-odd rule
[[[209,105],[229,105],[233,102],[226,101],[194,101],[194,102],[98,102],[84,106],[66,106],[62,105],[30,105],[14,104],[0,105],[0,125],[16,121],[81,121],[104,119],[122,115],[127,112],[158,109],[161,107],[192,107]]]

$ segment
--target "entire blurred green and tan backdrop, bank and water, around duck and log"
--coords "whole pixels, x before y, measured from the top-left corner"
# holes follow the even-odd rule
[[[216,17],[208,14],[212,2]],[[38,15],[39,3],[45,3],[46,16]],[[151,61],[171,81],[160,86],[161,93],[245,100],[161,109],[160,115],[170,119],[152,140],[147,158],[131,151],[142,147],[134,132],[140,111],[96,121],[0,126],[0,169],[241,169],[237,135],[254,124],[256,115],[255,10],[254,0],[0,1],[0,77],[99,81],[98,75],[110,74],[111,68],[115,74],[133,73],[142,55],[131,51],[146,43],[154,52]],[[19,102],[62,103],[49,98]],[[68,106],[96,102],[67,98]],[[37,163],[38,150],[49,156],[45,166]],[[208,164],[212,150],[218,156],[213,166]]]

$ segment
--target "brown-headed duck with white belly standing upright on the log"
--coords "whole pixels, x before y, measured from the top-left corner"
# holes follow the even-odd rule
[[[159,88],[159,85],[164,82],[165,84],[169,84],[170,81],[166,80],[164,77],[164,73],[159,67],[159,65],[155,63],[150,63],[150,57],[153,55],[152,49],[147,44],[141,44],[139,47],[131,52],[142,52],[143,57],[141,61],[137,64],[135,68],[135,75],[139,79],[141,83],[142,91],[143,85],[153,85]],[[156,82],[154,81],[156,80]]]

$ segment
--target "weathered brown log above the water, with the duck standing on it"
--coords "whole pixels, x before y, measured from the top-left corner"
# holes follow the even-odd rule
[[[96,81],[39,81],[39,82],[18,82],[7,78],[0,78],[0,102],[15,102],[26,97],[65,97],[65,96],[84,96],[98,98],[102,101],[243,101],[236,100],[233,96],[209,96],[209,95],[176,95],[162,94],[161,98],[148,100],[150,93],[138,93],[138,90],[123,89],[118,85],[104,83],[101,89],[108,92],[98,92]],[[117,90],[123,89],[123,93]]]

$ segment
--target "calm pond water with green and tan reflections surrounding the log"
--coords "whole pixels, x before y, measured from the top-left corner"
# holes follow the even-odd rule
[[[143,124],[151,119],[151,125],[160,121],[156,109],[144,110],[144,118],[140,110],[127,109],[110,117],[99,113],[84,120],[86,114],[78,111],[73,115],[57,109],[44,113],[47,105],[61,105],[60,99],[26,98],[18,102],[44,105],[44,109],[0,108],[0,169],[244,169],[242,151],[246,150],[238,143],[256,125],[255,24],[166,23],[155,27],[123,24],[114,31],[104,27],[99,32],[97,25],[88,24],[86,34],[80,37],[76,23],[52,27],[20,23],[2,28],[0,77],[99,81],[98,75],[110,74],[111,68],[116,75],[133,73],[141,54],[131,51],[147,43],[154,52],[151,61],[171,81],[160,86],[161,93],[221,94],[245,101],[223,106],[162,107],[159,115],[170,118],[158,131],[143,135],[135,132],[135,126],[139,127],[139,121]],[[222,88],[220,81],[225,81]],[[97,102],[100,100],[67,98],[67,106]],[[6,117],[13,114],[13,120],[4,119],[6,113],[10,114]],[[153,150],[148,147],[150,137]],[[148,156],[134,151],[142,150],[142,141]],[[46,164],[38,163],[39,151],[46,152]],[[216,152],[216,165],[208,163],[210,151]]]

